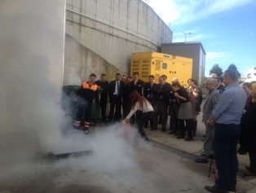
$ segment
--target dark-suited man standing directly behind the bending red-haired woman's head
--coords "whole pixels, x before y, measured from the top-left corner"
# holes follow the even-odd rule
[[[143,86],[144,86],[144,82],[142,80],[139,79],[139,72],[134,72],[133,73],[133,78],[134,80],[130,82],[130,89],[136,90],[140,96],[143,96]],[[142,116],[142,112],[141,111],[137,111],[136,112],[136,121],[139,120],[139,118]],[[135,118],[134,116],[132,116],[132,123],[135,122]]]

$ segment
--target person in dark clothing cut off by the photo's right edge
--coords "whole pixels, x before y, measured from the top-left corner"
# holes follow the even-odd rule
[[[245,166],[245,176],[256,175],[256,83],[252,85],[253,99],[245,112],[245,143],[249,152],[249,166]]]

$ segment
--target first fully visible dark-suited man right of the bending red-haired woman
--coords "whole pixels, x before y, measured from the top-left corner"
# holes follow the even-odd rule
[[[161,115],[161,131],[166,132],[167,123],[167,107],[169,106],[168,94],[170,93],[170,85],[165,84],[164,77],[159,77],[159,84],[152,90],[154,93],[153,105],[154,105],[154,121],[153,128],[157,129],[158,115]]]

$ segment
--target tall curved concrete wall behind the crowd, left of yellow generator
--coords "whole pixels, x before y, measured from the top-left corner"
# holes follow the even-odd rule
[[[168,26],[140,0],[67,0],[66,33],[81,44],[74,49],[90,50],[84,56],[91,59],[81,61],[66,49],[64,84],[77,84],[92,71],[99,76],[106,72],[106,64],[129,74],[131,53],[157,51],[161,43],[172,41]],[[68,37],[65,47],[70,41]],[[105,62],[91,64],[95,57]],[[73,77],[73,64],[78,63],[77,71],[86,72]],[[107,75],[113,78],[113,73]]]

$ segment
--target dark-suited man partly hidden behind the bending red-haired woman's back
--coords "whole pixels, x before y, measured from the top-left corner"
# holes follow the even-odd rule
[[[150,75],[148,77],[148,83],[145,84],[144,88],[143,88],[143,94],[144,94],[144,97],[146,99],[148,99],[148,101],[152,104],[152,99],[153,99],[153,92],[152,90],[154,89],[155,86],[157,86],[156,83],[154,83],[154,75]],[[153,105],[152,105],[153,107]],[[152,127],[153,126],[153,119],[150,120],[150,126]],[[145,124],[145,128],[148,128],[148,122]]]

